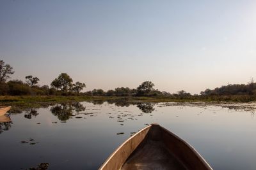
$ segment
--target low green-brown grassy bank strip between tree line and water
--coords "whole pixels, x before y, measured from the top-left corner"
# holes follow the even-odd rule
[[[190,97],[116,97],[116,96],[0,96],[1,105],[40,106],[46,103],[72,101],[123,101],[127,103],[163,102],[255,102],[256,96],[190,96]]]

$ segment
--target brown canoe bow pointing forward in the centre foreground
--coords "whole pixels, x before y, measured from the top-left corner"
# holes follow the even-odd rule
[[[158,124],[151,124],[127,139],[99,169],[212,168],[186,141]]]

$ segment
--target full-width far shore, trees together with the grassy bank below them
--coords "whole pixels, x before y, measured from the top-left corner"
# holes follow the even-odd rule
[[[65,103],[72,101],[121,101],[124,103],[167,103],[167,102],[239,102],[256,101],[256,83],[253,78],[247,84],[228,84],[215,89],[206,89],[200,94],[190,94],[184,90],[171,94],[170,92],[154,89],[154,83],[144,81],[136,89],[116,87],[104,91],[93,89],[82,92],[85,83],[76,81],[67,73],[61,73],[49,85],[38,85],[40,79],[36,76],[24,76],[22,80],[7,81],[13,67],[0,60],[0,105],[39,106],[47,103]]]

